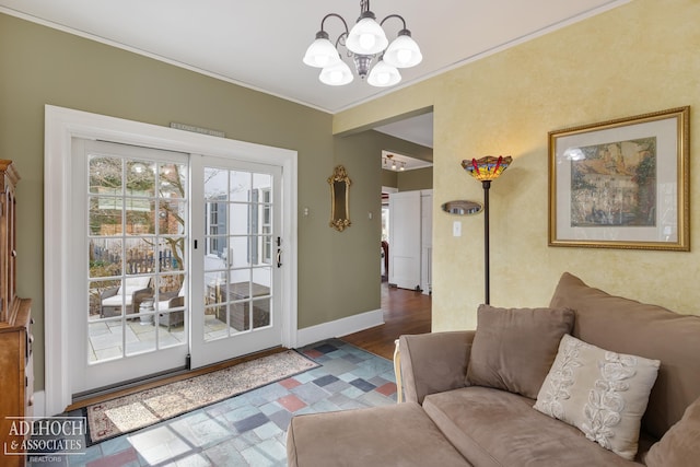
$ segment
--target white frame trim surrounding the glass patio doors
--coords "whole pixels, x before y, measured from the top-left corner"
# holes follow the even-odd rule
[[[296,151],[176,130],[69,108],[45,106],[44,154],[44,335],[46,415],[62,412],[71,404],[66,369],[70,352],[66,316],[68,294],[67,258],[71,186],[72,138],[100,139],[147,148],[234,157],[282,166],[284,261],[282,272],[282,345],[296,346],[296,245],[298,245],[298,153]]]

